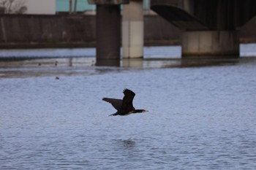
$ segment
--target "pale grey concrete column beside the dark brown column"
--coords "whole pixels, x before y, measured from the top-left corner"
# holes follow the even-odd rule
[[[143,0],[130,0],[124,5],[122,20],[123,58],[143,57]]]

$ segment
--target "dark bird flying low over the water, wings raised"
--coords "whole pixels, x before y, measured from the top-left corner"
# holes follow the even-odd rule
[[[142,113],[148,112],[145,109],[135,109],[132,105],[133,98],[135,97],[135,93],[132,90],[124,89],[124,98],[123,100],[117,98],[102,98],[103,101],[107,101],[117,110],[116,113],[110,116],[126,116],[132,113]]]

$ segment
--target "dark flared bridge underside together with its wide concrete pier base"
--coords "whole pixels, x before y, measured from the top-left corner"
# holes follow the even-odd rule
[[[184,30],[182,56],[239,55],[237,30],[256,15],[255,0],[151,0],[151,9]]]

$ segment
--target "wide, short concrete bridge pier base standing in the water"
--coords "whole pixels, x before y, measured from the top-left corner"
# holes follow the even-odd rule
[[[181,43],[182,57],[239,56],[237,31],[186,31]]]

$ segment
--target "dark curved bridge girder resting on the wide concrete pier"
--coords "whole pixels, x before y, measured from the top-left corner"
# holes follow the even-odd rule
[[[235,30],[256,15],[256,1],[151,0],[151,9],[187,31]]]

